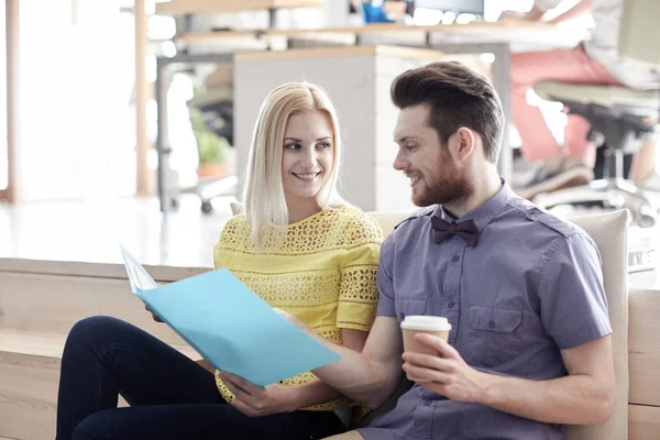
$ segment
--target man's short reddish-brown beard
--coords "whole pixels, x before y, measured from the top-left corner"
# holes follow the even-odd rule
[[[474,191],[474,185],[465,174],[447,163],[443,175],[426,184],[426,180],[422,182],[424,190],[417,197],[413,197],[413,202],[418,207],[461,202]]]

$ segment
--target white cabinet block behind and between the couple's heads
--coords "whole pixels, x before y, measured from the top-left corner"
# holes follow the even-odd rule
[[[393,130],[398,110],[389,99],[395,76],[439,59],[410,54],[375,55],[354,48],[311,51],[306,57],[238,57],[234,63],[234,139],[238,169],[245,169],[258,109],[275,87],[307,80],[328,91],[337,110],[343,144],[342,193],[360,208],[410,210],[410,185],[393,168],[397,146]],[[413,51],[411,51],[413,52]],[[428,53],[427,53],[428,54]],[[244,176],[241,175],[241,187]]]

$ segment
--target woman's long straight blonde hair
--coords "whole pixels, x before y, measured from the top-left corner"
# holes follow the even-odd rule
[[[342,147],[334,106],[319,86],[309,82],[284,84],[271,91],[262,103],[248,161],[243,200],[252,228],[252,242],[257,246],[264,244],[268,234],[284,231],[288,224],[288,208],[282,184],[284,133],[292,114],[311,110],[326,112],[333,131],[332,169],[317,196],[319,206],[326,209],[345,205],[338,189]]]

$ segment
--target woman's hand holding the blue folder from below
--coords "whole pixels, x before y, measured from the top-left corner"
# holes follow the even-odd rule
[[[234,395],[231,404],[250,417],[292,413],[298,409],[294,387],[283,385],[257,386],[227,372],[220,372],[220,378]]]

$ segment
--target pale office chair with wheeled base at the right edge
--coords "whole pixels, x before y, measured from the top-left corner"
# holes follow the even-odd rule
[[[625,0],[619,33],[619,56],[660,65],[660,2]],[[636,151],[658,130],[660,90],[639,91],[624,86],[590,86],[543,81],[535,86],[543,99],[560,101],[568,111],[591,123],[588,139],[605,148],[603,178],[588,185],[540,194],[534,201],[542,207],[603,205],[627,208],[632,220],[651,227],[660,210],[641,186],[624,178],[624,155]]]

